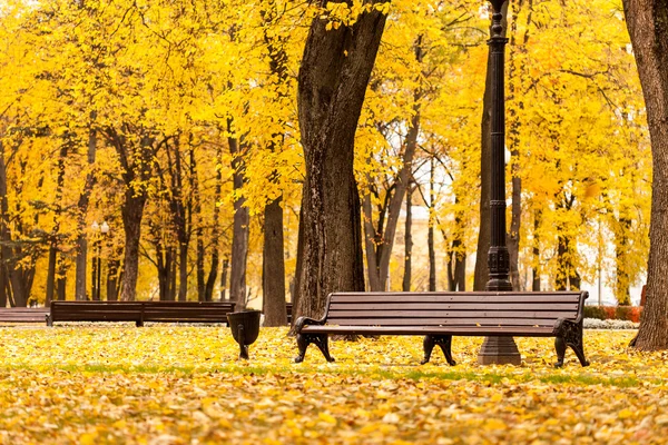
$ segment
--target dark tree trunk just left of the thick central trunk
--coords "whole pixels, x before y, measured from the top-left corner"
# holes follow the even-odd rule
[[[285,326],[285,263],[281,197],[265,206],[263,249],[263,306],[265,326]]]

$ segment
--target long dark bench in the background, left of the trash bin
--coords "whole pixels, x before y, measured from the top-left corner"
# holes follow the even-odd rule
[[[47,325],[53,322],[227,323],[230,301],[52,301]]]

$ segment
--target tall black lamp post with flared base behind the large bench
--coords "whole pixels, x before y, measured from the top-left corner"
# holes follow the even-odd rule
[[[510,0],[508,0],[510,1]],[[488,254],[489,281],[487,290],[512,290],[510,257],[505,247],[505,44],[502,6],[505,0],[490,0],[493,8],[490,47],[491,69],[491,240]],[[488,337],[478,355],[478,363],[515,364],[521,356],[512,337]]]

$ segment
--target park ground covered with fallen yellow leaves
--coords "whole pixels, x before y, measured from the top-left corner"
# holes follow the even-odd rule
[[[419,337],[334,342],[293,364],[286,328],[250,359],[224,327],[0,327],[1,444],[647,444],[668,441],[666,353],[632,332],[587,330],[592,365],[518,338],[522,366],[478,366],[455,337],[419,365]]]

